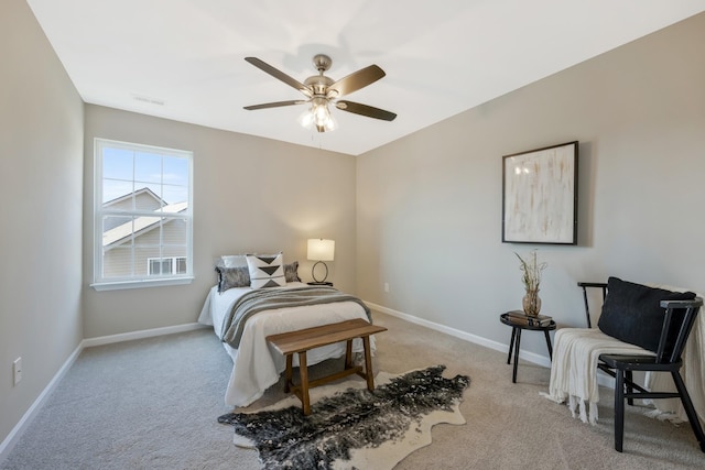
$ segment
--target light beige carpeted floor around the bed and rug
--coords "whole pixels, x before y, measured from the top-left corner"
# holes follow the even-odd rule
[[[389,328],[378,336],[376,371],[445,364],[445,376],[473,381],[460,404],[467,424],[435,426],[433,444],[398,469],[688,469],[705,462],[690,426],[633,408],[625,452],[616,452],[610,390],[600,391],[598,425],[585,425],[539,395],[547,369],[522,362],[512,384],[506,352],[373,315]],[[328,361],[311,374],[338,367]],[[86,349],[0,468],[259,469],[257,451],[236,447],[232,428],[217,422],[231,411],[223,400],[230,369],[206,329]],[[282,383],[250,408],[283,398]]]

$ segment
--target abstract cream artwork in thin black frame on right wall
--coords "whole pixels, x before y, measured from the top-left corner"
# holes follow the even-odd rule
[[[502,157],[502,242],[577,244],[578,141]]]

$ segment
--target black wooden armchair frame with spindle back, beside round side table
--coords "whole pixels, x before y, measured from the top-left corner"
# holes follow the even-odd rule
[[[603,289],[603,299],[607,292],[607,284],[578,283],[583,287],[588,327],[589,307],[587,302],[587,288],[599,287]],[[692,300],[661,300],[664,309],[663,325],[655,356],[646,354],[600,354],[597,367],[616,379],[615,382],[615,450],[622,451],[625,434],[625,400],[633,405],[633,398],[681,398],[687,419],[695,433],[695,437],[705,452],[705,435],[699,419],[693,407],[693,402],[687,393],[680,370],[683,365],[681,354],[691,334],[703,299],[695,297]],[[674,336],[675,332],[675,336]],[[675,338],[675,340],[673,340]],[[632,374],[641,372],[670,372],[675,383],[676,392],[654,392],[643,389],[634,383]]]

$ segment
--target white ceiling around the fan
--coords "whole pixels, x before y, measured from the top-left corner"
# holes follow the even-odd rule
[[[705,11],[705,0],[28,0],[86,102],[358,155]],[[316,8],[316,6],[319,6]],[[245,62],[303,81],[387,76],[334,109],[338,129],[296,123],[303,97]]]

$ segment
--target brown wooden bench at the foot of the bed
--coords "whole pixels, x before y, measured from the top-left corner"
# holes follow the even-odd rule
[[[370,351],[370,335],[387,331],[387,328],[372,325],[361,318],[323,325],[297,331],[289,331],[279,335],[270,335],[267,340],[282,354],[286,357],[286,372],[284,392],[292,392],[301,400],[304,415],[311,414],[311,401],[308,390],[323,385],[347,375],[358,374],[367,380],[367,389],[375,390],[375,375],[372,373],[372,354]],[[365,371],[360,365],[352,365],[352,340],[362,338],[365,347]],[[345,369],[317,380],[308,381],[308,368],[306,365],[306,351],[334,342],[347,341],[345,351]],[[293,354],[299,353],[299,372],[301,384],[294,385]]]

